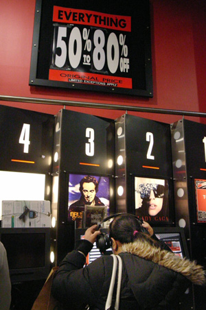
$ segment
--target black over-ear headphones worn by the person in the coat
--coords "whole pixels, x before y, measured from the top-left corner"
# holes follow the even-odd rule
[[[98,229],[100,229],[102,224],[104,222],[108,221],[108,219],[111,219],[113,217],[117,217],[119,215],[133,215],[133,214],[130,214],[130,213],[116,213],[116,214],[110,215],[108,217],[105,217],[105,219],[103,219],[103,221],[98,225]],[[133,217],[135,217],[137,219],[137,222],[141,226],[141,232],[140,233],[148,234],[148,230],[142,226],[143,220],[139,219],[139,217],[137,217],[136,215],[133,215]],[[101,234],[98,235],[98,237],[96,239],[96,246],[97,246],[97,248],[100,250],[100,252],[102,254],[106,254],[106,250],[108,250],[112,246],[111,239],[110,239],[109,235],[106,234],[106,233],[101,232]]]

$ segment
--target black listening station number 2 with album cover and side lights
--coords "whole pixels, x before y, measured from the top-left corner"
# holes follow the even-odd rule
[[[170,125],[123,115],[115,131],[117,211],[174,225]]]

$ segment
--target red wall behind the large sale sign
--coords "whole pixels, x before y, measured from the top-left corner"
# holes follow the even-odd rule
[[[151,1],[154,97],[150,99],[29,86],[34,10],[35,0],[0,1],[0,95],[206,112],[204,0]],[[0,104],[49,114],[63,108],[19,102]],[[111,119],[125,113],[125,110],[66,108]],[[165,123],[181,119],[180,115],[128,113]],[[200,121],[197,117],[187,119]]]

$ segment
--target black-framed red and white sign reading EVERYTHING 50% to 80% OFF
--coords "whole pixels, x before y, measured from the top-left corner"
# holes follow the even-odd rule
[[[56,2],[36,0],[30,85],[152,97],[149,0]]]

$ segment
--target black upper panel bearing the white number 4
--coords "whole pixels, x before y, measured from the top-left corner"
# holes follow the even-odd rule
[[[52,171],[54,116],[0,106],[0,169]]]

